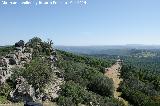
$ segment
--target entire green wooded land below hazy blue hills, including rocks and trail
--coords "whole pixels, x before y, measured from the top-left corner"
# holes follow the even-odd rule
[[[160,106],[159,50],[78,55],[52,44],[34,37],[0,48],[0,103]]]

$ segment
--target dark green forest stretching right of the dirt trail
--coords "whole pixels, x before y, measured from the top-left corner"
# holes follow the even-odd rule
[[[103,59],[123,60],[118,89],[121,97],[134,106],[160,106],[160,55],[157,50],[131,50],[130,55],[94,55]],[[93,56],[93,55],[92,55]]]

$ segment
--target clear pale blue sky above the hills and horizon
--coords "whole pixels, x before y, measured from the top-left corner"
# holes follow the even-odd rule
[[[50,38],[56,45],[160,45],[159,0],[86,0],[86,5],[56,1],[61,4],[0,3],[0,45],[33,36]]]

